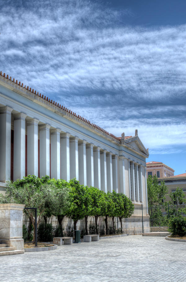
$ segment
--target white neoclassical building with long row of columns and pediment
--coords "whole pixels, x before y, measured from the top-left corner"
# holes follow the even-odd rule
[[[6,180],[50,175],[126,194],[147,205],[148,150],[138,137],[116,137],[0,73],[0,193]]]

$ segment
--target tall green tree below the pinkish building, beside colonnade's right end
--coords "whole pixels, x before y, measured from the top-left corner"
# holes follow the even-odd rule
[[[166,187],[165,182],[161,181],[160,185],[158,183],[158,178],[156,175],[148,175],[147,179],[147,194],[148,194],[148,205],[152,207],[154,205],[162,205],[163,200],[166,199],[166,193],[168,192],[168,187]]]

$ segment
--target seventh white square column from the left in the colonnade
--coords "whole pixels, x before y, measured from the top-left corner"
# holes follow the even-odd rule
[[[70,179],[79,180],[78,137],[70,138]]]

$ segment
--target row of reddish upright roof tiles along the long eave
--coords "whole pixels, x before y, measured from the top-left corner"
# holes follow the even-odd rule
[[[97,130],[102,131],[104,134],[107,134],[108,136],[111,136],[111,137],[113,137],[114,139],[117,139],[118,141],[120,141],[121,137],[116,137],[114,134],[109,133],[108,131],[104,130],[104,129],[101,128],[100,126],[95,125],[95,124],[91,123],[90,121],[87,121],[87,119],[85,119],[84,117],[82,118],[82,116],[76,115],[76,113],[74,113],[74,112],[70,111],[69,109],[67,109],[67,108],[65,108],[65,107],[63,107],[63,106],[61,106],[61,105],[59,105],[59,103],[57,103],[57,102],[55,102],[55,101],[52,101],[52,100],[49,99],[48,97],[46,98],[46,96],[41,95],[41,93],[39,94],[39,92],[36,92],[36,90],[34,91],[34,89],[29,88],[29,86],[24,85],[24,87],[23,87],[23,83],[21,84],[20,81],[19,81],[19,83],[18,83],[17,80],[15,81],[15,78],[13,78],[13,80],[12,80],[11,76],[10,76],[10,78],[9,78],[8,75],[7,75],[7,77],[6,77],[6,74],[5,74],[5,73],[2,74],[2,71],[0,71],[0,75],[3,76],[5,79],[10,80],[11,82],[13,82],[13,83],[15,83],[15,84],[18,84],[18,85],[19,85],[20,87],[22,87],[23,89],[34,93],[34,94],[37,95],[38,97],[40,97],[40,98],[46,100],[47,102],[49,102],[49,103],[55,105],[56,107],[61,108],[62,110],[68,112],[68,113],[71,114],[72,116],[75,116],[76,118],[78,118],[78,119],[80,119],[80,120],[82,120],[82,121],[88,123],[89,125],[92,125],[92,126],[95,127]],[[126,137],[128,137],[128,136],[126,136]],[[131,136],[131,137],[132,137],[132,136]],[[126,139],[127,139],[127,138],[126,138]]]

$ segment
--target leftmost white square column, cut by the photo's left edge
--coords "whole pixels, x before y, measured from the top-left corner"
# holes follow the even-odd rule
[[[8,106],[0,108],[0,182],[10,180],[12,110]]]

